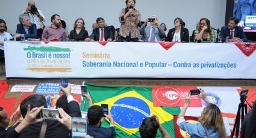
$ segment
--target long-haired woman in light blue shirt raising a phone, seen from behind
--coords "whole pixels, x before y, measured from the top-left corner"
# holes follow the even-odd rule
[[[198,119],[199,123],[192,124],[185,121],[184,115],[187,107],[189,107],[190,93],[185,97],[185,104],[177,119],[177,124],[181,130],[187,131],[191,137],[226,137],[225,126],[223,123],[222,114],[219,107],[211,104],[205,95],[204,90],[199,89],[202,93],[200,97],[208,104],[202,110],[201,117]]]

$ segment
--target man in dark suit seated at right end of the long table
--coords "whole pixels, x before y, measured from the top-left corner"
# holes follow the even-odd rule
[[[222,41],[226,41],[226,37],[229,37],[229,42],[246,42],[247,38],[243,32],[243,28],[237,26],[239,20],[237,17],[230,17],[228,26],[223,26],[221,28],[220,37]]]

